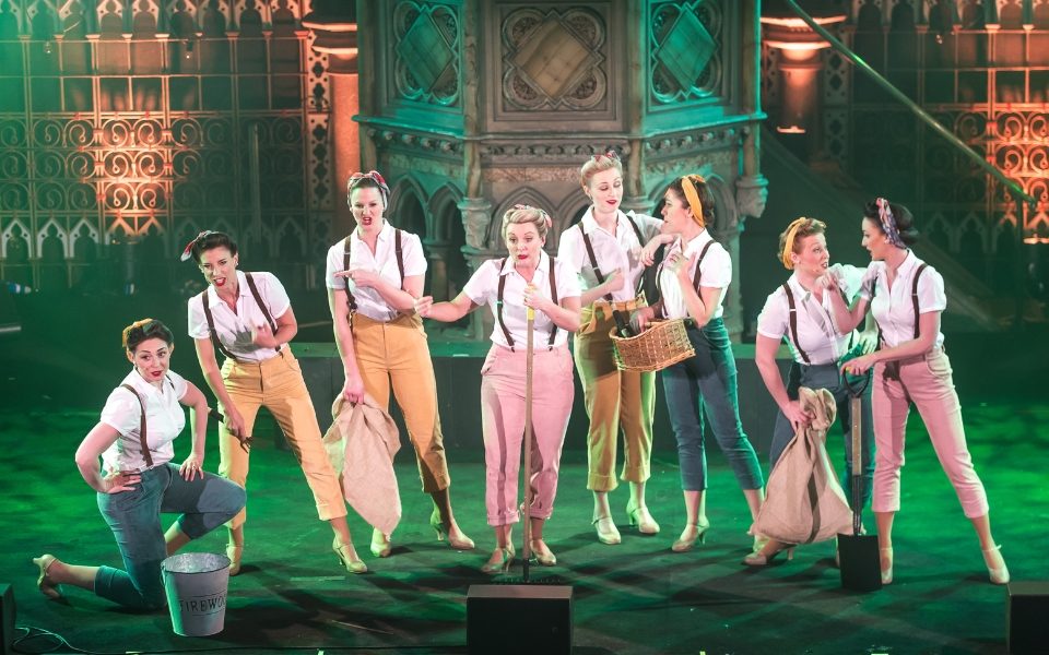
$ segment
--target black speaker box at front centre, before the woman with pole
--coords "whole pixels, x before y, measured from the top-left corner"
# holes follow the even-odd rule
[[[467,646],[474,655],[571,653],[571,587],[470,585]]]

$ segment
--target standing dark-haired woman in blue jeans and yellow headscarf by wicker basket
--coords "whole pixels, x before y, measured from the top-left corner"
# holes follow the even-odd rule
[[[703,177],[689,175],[671,182],[663,195],[662,216],[662,233],[670,246],[659,271],[660,300],[640,309],[636,319],[643,330],[656,317],[685,319],[688,340],[696,350],[694,357],[662,373],[685,499],[685,528],[672,550],[684,552],[697,540],[703,543],[710,527],[706,515],[704,410],[743,489],[752,519],[757,517],[765,501],[765,481],[754,446],[740,422],[735,359],[721,320],[732,261],[707,231],[707,223],[714,219],[714,198]],[[755,535],[754,547],[761,548],[763,543]]]

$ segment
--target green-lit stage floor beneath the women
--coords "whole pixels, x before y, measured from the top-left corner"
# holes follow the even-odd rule
[[[965,407],[969,443],[988,488],[995,536],[1014,580],[1045,580],[1044,525],[1049,489],[1044,426],[1049,403],[975,403]],[[493,548],[484,523],[481,453],[449,451],[452,498],[472,552],[437,543],[427,525],[428,497],[419,491],[411,450],[398,455],[404,519],[388,559],[367,552],[370,534],[351,515],[365,575],[340,571],[328,527],[291,453],[261,440],[252,453],[248,546],[244,572],[232,579],[225,630],[212,638],[179,638],[166,612],[133,614],[81,590],[51,602],[36,587],[30,559],[52,552],[74,563],[119,564],[94,493],[72,461],[95,412],[0,412],[5,462],[0,487],[0,582],[14,587],[17,624],[60,633],[92,652],[243,653],[382,650],[465,652],[465,596],[492,579],[479,567]],[[904,472],[904,511],[896,523],[896,581],[871,594],[841,590],[829,544],[799,548],[791,562],[762,570],[741,565],[750,548],[750,519],[724,458],[711,444],[705,546],[674,553],[683,527],[676,455],[669,434],[658,450],[648,504],[662,525],[655,537],[626,524],[625,486],[612,496],[623,544],[604,546],[590,526],[585,434],[573,426],[565,450],[556,512],[546,537],[558,564],[533,567],[575,590],[576,653],[861,654],[1005,652],[1004,587],[987,582],[978,543],[914,417]],[[712,441],[712,440],[711,440]],[[188,440],[176,442],[185,454]],[[835,462],[840,452],[832,440]],[[763,461],[765,453],[762,453]],[[209,443],[209,469],[217,446]],[[869,517],[868,525],[873,521]],[[518,532],[518,541],[520,533]],[[215,533],[190,550],[223,551]],[[519,579],[520,563],[503,580]],[[497,579],[498,580],[498,579]],[[523,639],[508,632],[507,640]],[[24,644],[47,650],[45,642]]]

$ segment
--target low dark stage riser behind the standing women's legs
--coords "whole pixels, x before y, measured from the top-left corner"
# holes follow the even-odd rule
[[[765,460],[776,422],[776,403],[765,389],[757,366],[754,364],[754,346],[734,344],[732,347],[739,370],[740,416],[743,429],[757,449],[759,457]],[[325,431],[331,425],[331,404],[342,389],[342,362],[332,344],[293,343],[292,348],[302,365],[306,386],[317,409],[320,429]],[[431,356],[434,360],[434,373],[437,377],[440,425],[447,448],[482,448],[481,365],[484,362],[487,349],[487,343],[435,344],[431,342]],[[790,360],[786,358],[787,349],[780,350],[777,362],[782,373],[790,365]],[[656,380],[653,448],[674,450],[676,443],[667,415],[662,381],[658,376],[659,373]],[[565,446],[585,448],[588,427],[587,409],[578,374],[575,381],[576,397]],[[391,402],[390,405],[390,413],[401,430],[402,439],[406,442],[404,421],[397,408],[397,403]]]

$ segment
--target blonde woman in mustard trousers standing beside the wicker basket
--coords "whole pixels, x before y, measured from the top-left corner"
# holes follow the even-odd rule
[[[641,534],[659,524],[645,502],[652,453],[656,372],[620,370],[611,332],[623,335],[629,313],[647,305],[639,286],[645,273],[641,247],[659,235],[662,222],[623,213],[623,164],[614,151],[594,155],[579,170],[591,205],[576,225],[561,235],[557,259],[579,274],[584,288],[581,326],[574,336],[576,369],[582,381],[590,429],[587,433],[587,488],[593,491],[593,525],[602,544],[618,544],[609,492],[615,476],[620,429],[623,430],[622,479],[630,484],[626,514]]]

